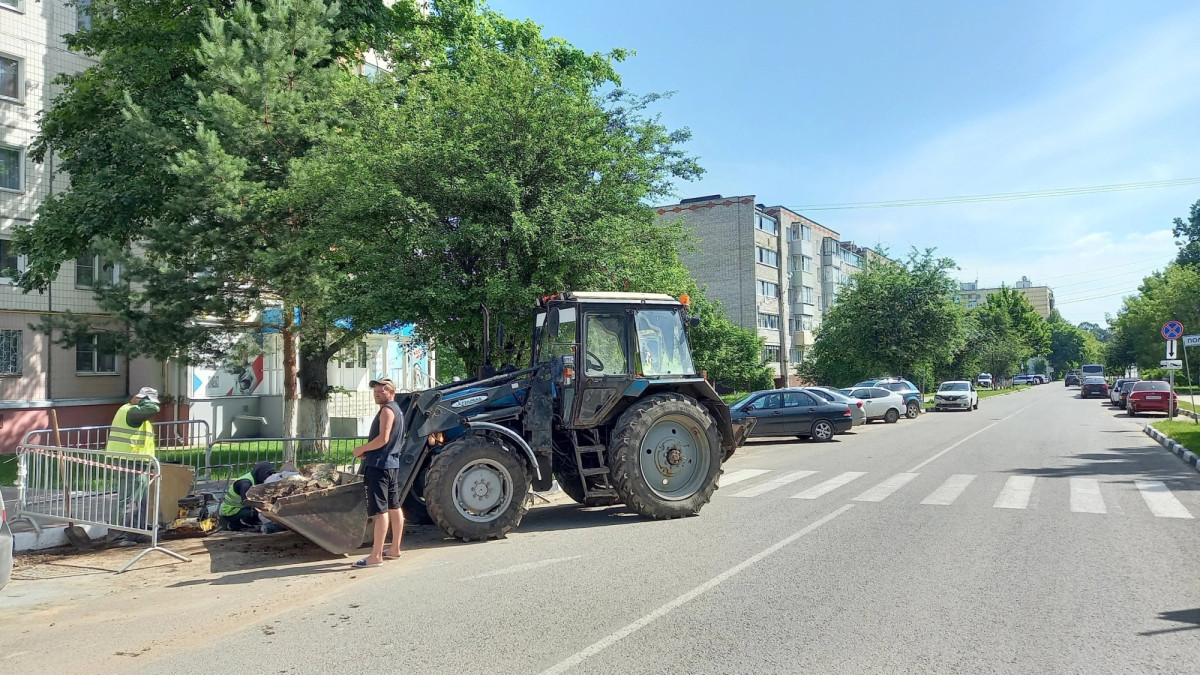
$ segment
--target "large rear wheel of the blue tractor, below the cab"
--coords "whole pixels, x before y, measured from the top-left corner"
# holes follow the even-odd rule
[[[662,520],[695,515],[713,498],[721,455],[716,422],[703,406],[679,394],[655,394],[617,420],[608,468],[626,506]]]

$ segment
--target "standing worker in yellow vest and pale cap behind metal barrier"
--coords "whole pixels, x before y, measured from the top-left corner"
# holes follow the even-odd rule
[[[150,419],[158,414],[158,392],[152,387],[143,387],[130,402],[116,408],[113,416],[113,424],[108,428],[108,443],[104,449],[110,453],[134,453],[154,456],[155,438],[154,428]],[[145,465],[134,462],[122,462],[114,458],[114,464],[122,468],[140,470]],[[144,473],[132,471],[118,471],[116,473],[116,502],[113,504],[113,516],[110,524],[136,530],[146,530],[157,524],[146,522],[146,518],[154,518],[149,512],[152,504],[143,509],[150,488],[149,477]],[[125,533],[109,530],[110,542],[125,538]]]

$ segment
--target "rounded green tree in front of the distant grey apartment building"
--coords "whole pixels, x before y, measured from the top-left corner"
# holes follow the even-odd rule
[[[869,261],[827,311],[798,374],[845,386],[877,375],[916,377],[949,363],[965,341],[952,269],[954,261],[932,249],[914,249],[904,262]]]

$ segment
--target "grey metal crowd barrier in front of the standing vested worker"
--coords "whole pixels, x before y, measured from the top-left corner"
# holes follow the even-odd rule
[[[158,545],[162,466],[151,455],[30,444],[18,448],[19,514],[38,521],[88,524],[150,538],[118,573],[151,551],[188,562]]]

